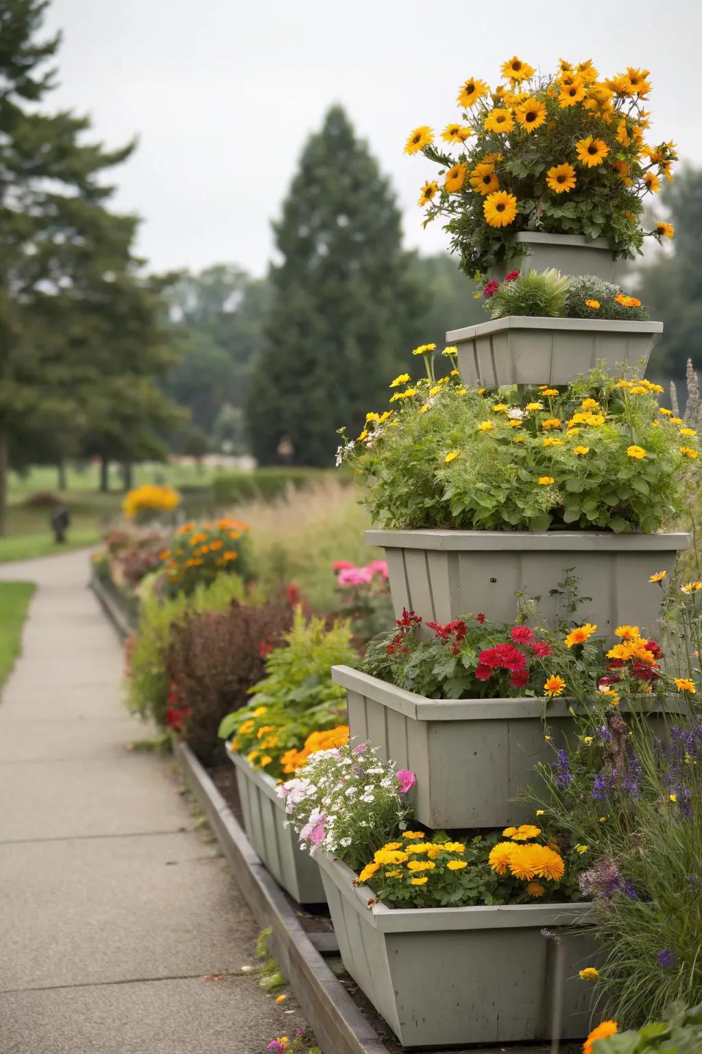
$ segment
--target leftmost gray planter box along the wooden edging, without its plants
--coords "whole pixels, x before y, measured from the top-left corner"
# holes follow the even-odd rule
[[[324,903],[319,867],[300,848],[294,827],[284,827],[285,803],[278,797],[278,784],[260,769],[252,768],[241,754],[227,749],[237,769],[246,837],[273,877],[300,904]]]

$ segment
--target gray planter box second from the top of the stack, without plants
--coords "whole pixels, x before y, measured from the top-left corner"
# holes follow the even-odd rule
[[[603,318],[527,318],[508,315],[446,333],[458,348],[467,385],[567,385],[604,360],[614,372],[622,363],[648,362],[663,323]]]

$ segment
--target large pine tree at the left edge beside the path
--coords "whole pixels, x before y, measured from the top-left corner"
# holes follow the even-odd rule
[[[81,447],[98,407],[114,434],[133,416],[114,399],[132,390],[157,413],[155,428],[174,416],[146,392],[172,356],[158,298],[132,253],[138,221],[106,207],[104,176],[134,143],[105,150],[84,138],[87,118],[39,109],[59,45],[58,36],[36,40],[46,6],[0,5],[0,533],[11,458],[26,461],[51,437],[60,462]],[[114,449],[141,447],[132,432]]]

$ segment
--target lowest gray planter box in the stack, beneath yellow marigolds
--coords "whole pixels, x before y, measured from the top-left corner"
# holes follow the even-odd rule
[[[403,1047],[550,1039],[556,945],[543,928],[564,952],[562,1038],[587,1034],[591,990],[578,970],[595,959],[589,904],[369,905],[345,864],[318,860],[343,964]]]

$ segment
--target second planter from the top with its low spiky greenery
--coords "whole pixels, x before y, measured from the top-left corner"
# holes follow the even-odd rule
[[[586,370],[643,369],[662,323],[649,321],[639,299],[591,275],[549,269],[513,271],[488,281],[483,306],[490,321],[446,333],[465,384],[567,385]]]

